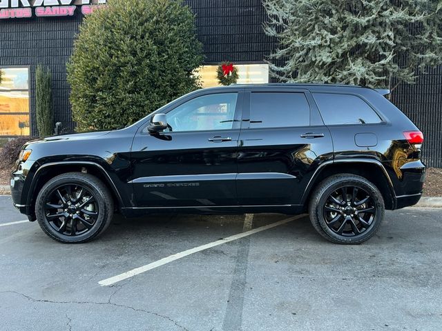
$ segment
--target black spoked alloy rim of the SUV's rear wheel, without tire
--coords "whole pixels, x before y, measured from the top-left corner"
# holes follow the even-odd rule
[[[376,217],[373,199],[357,186],[342,186],[332,192],[323,211],[328,228],[346,237],[367,231]]]

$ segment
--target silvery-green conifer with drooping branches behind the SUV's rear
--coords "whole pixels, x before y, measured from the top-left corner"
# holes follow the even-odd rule
[[[441,0],[263,0],[281,81],[392,88],[442,63]]]

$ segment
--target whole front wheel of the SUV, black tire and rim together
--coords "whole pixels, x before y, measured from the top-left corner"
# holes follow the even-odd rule
[[[86,243],[108,228],[113,198],[102,181],[91,174],[68,172],[41,188],[35,214],[41,230],[61,243]]]

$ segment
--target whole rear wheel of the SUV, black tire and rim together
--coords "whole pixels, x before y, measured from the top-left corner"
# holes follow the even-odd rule
[[[311,224],[332,243],[352,245],[367,241],[381,227],[384,214],[385,204],[376,185],[354,174],[325,179],[309,201]]]

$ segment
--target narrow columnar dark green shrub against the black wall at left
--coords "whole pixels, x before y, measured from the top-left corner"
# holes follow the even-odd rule
[[[39,136],[51,136],[54,131],[52,74],[43,66],[37,66],[35,70],[35,110]]]

